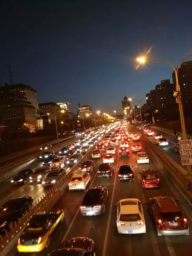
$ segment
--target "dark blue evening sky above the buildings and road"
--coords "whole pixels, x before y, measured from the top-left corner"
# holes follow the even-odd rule
[[[35,88],[39,102],[78,102],[121,112],[124,95],[140,100],[163,79],[166,64],[135,70],[135,57],[174,65],[192,53],[192,1],[4,1],[0,6],[0,85]],[[132,106],[136,102],[132,103]]]

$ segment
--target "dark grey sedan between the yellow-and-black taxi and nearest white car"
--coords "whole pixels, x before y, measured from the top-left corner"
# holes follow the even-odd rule
[[[87,189],[80,205],[81,215],[95,216],[105,213],[105,203],[107,197],[107,187],[98,186]]]

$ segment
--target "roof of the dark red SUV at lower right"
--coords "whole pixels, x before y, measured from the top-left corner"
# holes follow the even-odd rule
[[[171,196],[156,196],[159,209],[161,212],[179,212],[180,209]]]

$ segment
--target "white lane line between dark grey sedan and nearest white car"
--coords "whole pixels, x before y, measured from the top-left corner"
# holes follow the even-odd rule
[[[118,164],[119,164],[119,152],[118,152],[117,166],[118,166]],[[109,235],[109,226],[110,226],[110,221],[111,221],[112,206],[113,206],[113,200],[114,200],[114,195],[115,195],[116,180],[117,180],[117,168],[116,168],[116,172],[115,172],[115,181],[114,181],[113,191],[112,191],[112,196],[111,196],[111,204],[110,204],[110,209],[109,209],[109,216],[108,216],[107,228],[106,228],[106,233],[105,233],[105,240],[104,240],[104,244],[103,244],[102,256],[106,255],[107,241],[108,241],[108,235]]]

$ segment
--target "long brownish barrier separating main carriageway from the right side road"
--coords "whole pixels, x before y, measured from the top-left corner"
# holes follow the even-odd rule
[[[188,197],[189,201],[192,202],[192,193],[187,191],[192,190],[192,177],[177,163],[175,163],[171,157],[166,155],[160,148],[156,146],[151,140],[145,135],[141,136],[141,140],[150,150],[150,153],[158,157],[159,164],[163,164],[164,171],[171,176],[175,183],[179,186],[185,196]]]

